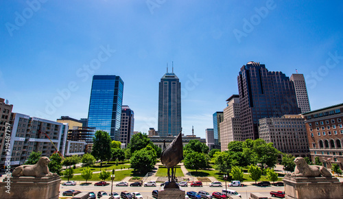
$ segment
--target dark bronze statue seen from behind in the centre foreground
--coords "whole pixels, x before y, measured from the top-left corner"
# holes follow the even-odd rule
[[[176,180],[176,165],[180,163],[183,159],[183,146],[182,146],[182,128],[178,136],[163,150],[161,154],[161,163],[165,165],[168,169],[168,181],[175,181]],[[165,145],[165,141],[164,141]],[[171,176],[169,173],[169,169],[171,169]],[[175,169],[175,171],[174,171]]]

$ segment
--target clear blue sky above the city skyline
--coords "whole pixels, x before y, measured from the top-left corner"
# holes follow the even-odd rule
[[[28,2],[28,3],[27,3]],[[249,61],[307,77],[311,109],[342,103],[342,1],[1,1],[0,97],[14,112],[88,114],[92,75],[120,75],[134,130],[157,128],[166,65],[200,137]]]

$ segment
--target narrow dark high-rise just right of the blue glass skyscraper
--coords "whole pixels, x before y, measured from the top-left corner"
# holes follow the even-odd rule
[[[121,108],[121,126],[120,139],[122,144],[126,146],[130,143],[134,128],[134,112],[129,106],[122,106]]]

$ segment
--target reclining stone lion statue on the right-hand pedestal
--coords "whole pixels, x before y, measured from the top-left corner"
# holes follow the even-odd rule
[[[296,168],[294,172],[290,174],[290,176],[294,177],[329,177],[331,173],[327,170],[327,168],[318,166],[318,165],[308,165],[305,159],[302,157],[298,157],[294,160],[296,164]]]

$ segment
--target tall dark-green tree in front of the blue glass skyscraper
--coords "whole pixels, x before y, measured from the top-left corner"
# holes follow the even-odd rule
[[[92,155],[95,159],[100,160],[100,170],[102,169],[102,162],[112,157],[110,145],[111,139],[108,132],[97,130],[95,137],[93,137]]]

